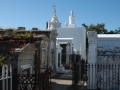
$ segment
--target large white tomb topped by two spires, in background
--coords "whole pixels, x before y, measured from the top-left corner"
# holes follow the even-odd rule
[[[61,28],[61,23],[56,16],[56,8],[53,9],[53,17],[48,21],[47,30],[54,29],[57,31],[57,38],[73,38],[74,50],[76,54],[80,54],[81,58],[86,59],[86,29],[84,27],[76,27],[73,10],[70,12],[69,24],[65,23],[65,27]]]

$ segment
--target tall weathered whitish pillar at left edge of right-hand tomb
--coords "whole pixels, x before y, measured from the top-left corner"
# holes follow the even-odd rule
[[[95,31],[89,31],[88,34],[88,63],[92,68],[88,69],[88,88],[96,89],[96,70],[93,67],[97,60],[97,33]],[[94,77],[94,79],[92,79]]]

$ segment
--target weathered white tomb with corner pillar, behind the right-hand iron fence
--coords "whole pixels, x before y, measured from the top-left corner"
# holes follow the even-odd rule
[[[118,65],[120,65],[120,34],[97,34],[95,31],[89,31],[88,44],[88,63],[93,64],[92,68],[88,69],[88,88],[119,90],[117,80],[119,80],[120,74],[118,69]],[[102,65],[102,67],[95,68],[95,64]],[[94,77],[93,80],[92,77]]]

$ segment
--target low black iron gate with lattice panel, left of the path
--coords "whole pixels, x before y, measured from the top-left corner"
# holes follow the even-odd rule
[[[51,70],[46,69],[40,74],[18,74],[13,76],[17,79],[16,90],[51,90]]]

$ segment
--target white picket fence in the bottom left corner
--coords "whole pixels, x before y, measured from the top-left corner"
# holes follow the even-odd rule
[[[10,73],[10,75],[8,75]],[[10,79],[10,83],[8,83],[8,79]],[[2,90],[8,90],[8,87],[10,86],[9,90],[12,90],[12,67],[10,65],[10,69],[8,70],[8,65],[2,66]]]

